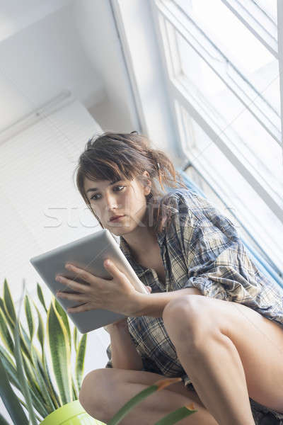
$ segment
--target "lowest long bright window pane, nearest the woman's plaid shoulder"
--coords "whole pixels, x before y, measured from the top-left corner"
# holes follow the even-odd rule
[[[270,256],[278,268],[282,268],[283,258],[280,254],[282,222],[190,117],[185,108],[177,101],[175,108],[188,159],[200,168],[205,179],[244,223],[250,234],[253,234],[260,246],[265,249],[267,256]],[[230,217],[228,210],[226,215]],[[235,219],[231,220],[235,222]],[[241,225],[238,226],[238,231],[241,234]]]

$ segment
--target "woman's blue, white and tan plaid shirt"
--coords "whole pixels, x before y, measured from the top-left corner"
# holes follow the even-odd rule
[[[151,293],[197,288],[206,297],[239,302],[279,323],[283,332],[283,290],[255,266],[233,222],[189,189],[173,189],[168,200],[175,212],[169,229],[157,236],[165,285],[153,268],[134,261],[129,245],[120,237],[120,249],[141,282],[151,286]],[[127,324],[144,365],[142,370],[182,377],[185,385],[191,383],[162,317],[128,317]],[[107,355],[105,367],[112,368],[110,345]]]

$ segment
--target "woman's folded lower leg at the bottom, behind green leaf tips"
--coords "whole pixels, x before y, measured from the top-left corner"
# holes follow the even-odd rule
[[[133,376],[136,375],[137,377],[139,374],[145,373],[143,371],[136,370],[118,371],[125,372],[128,376],[129,373],[132,373]],[[88,412],[88,414],[94,418],[106,423],[126,402],[129,401],[129,399],[153,383],[148,382],[146,384],[141,384],[123,382],[123,380],[120,380],[119,382],[117,379],[111,379],[111,373],[113,375],[113,372],[117,373],[117,370],[94,370],[93,373],[90,373],[86,376],[80,393],[80,402],[84,409],[86,409],[86,412]],[[154,379],[151,377],[151,381],[153,380],[154,382],[156,382],[158,379],[165,378],[163,375],[153,375],[156,375],[156,378]],[[172,387],[174,385],[176,384],[173,384]],[[95,388],[97,388],[97,391]],[[190,395],[189,390],[187,390],[187,392],[188,395]],[[194,403],[195,409],[197,409],[198,412],[195,412],[192,415],[187,416],[187,418],[178,421],[178,424],[218,425],[214,417],[209,414],[207,409],[205,409],[201,404],[198,404],[195,399],[185,397],[185,395],[182,395],[178,392],[173,392],[166,389],[154,392],[142,402],[137,404],[137,406],[135,406],[132,411],[129,412],[129,414],[127,414],[124,419],[122,419],[120,424],[152,425],[167,414],[173,412],[175,409],[190,404],[191,402]]]

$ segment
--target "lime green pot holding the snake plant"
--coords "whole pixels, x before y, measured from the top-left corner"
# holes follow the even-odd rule
[[[64,404],[40,422],[40,425],[105,425],[93,419],[81,406],[79,400]]]

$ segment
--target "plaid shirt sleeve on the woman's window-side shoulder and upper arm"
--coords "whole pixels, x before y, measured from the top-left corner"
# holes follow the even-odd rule
[[[253,303],[261,290],[259,272],[235,225],[207,199],[186,193],[179,194],[174,215],[174,231],[187,267],[183,288],[197,288],[221,300]]]

